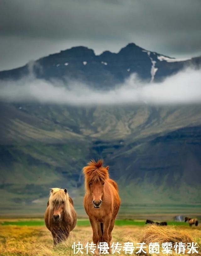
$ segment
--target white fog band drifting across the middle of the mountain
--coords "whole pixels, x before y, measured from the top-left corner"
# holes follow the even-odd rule
[[[184,69],[159,83],[144,82],[134,73],[111,90],[95,90],[76,81],[68,81],[67,87],[65,82],[59,80],[46,81],[30,75],[17,81],[0,81],[0,99],[72,106],[200,103],[200,81],[200,69],[192,68]]]

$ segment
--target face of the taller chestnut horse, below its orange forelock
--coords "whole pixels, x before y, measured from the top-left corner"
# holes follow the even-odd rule
[[[93,204],[95,208],[99,208],[102,203],[102,195],[104,190],[104,182],[90,183],[91,194],[93,197]]]

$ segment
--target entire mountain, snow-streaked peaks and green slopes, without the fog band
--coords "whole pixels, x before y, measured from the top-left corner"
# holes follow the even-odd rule
[[[79,46],[0,72],[111,90],[132,73],[159,82],[201,57],[178,60],[128,44],[95,55]],[[103,158],[120,188],[122,214],[136,205],[201,205],[201,105],[67,106],[0,102],[1,212],[43,213],[49,188],[66,187],[84,213],[81,169]],[[192,206],[193,205],[193,206]],[[132,208],[133,207],[133,208]],[[169,206],[168,206],[169,207]],[[187,209],[187,208],[185,208]],[[145,209],[147,212],[148,209]],[[142,212],[141,212],[142,213]]]

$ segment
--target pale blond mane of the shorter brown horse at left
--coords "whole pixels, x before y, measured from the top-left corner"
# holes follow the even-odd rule
[[[70,215],[70,217],[72,217],[68,192],[65,193],[64,189],[61,188],[51,188],[50,198],[48,201],[50,209],[52,210],[54,208],[55,202],[60,205],[62,204],[62,201],[64,202],[66,212]]]

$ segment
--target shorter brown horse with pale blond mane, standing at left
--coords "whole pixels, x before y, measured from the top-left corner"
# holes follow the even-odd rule
[[[68,238],[76,226],[77,214],[67,189],[51,189],[44,218],[46,227],[52,233],[54,245]]]

